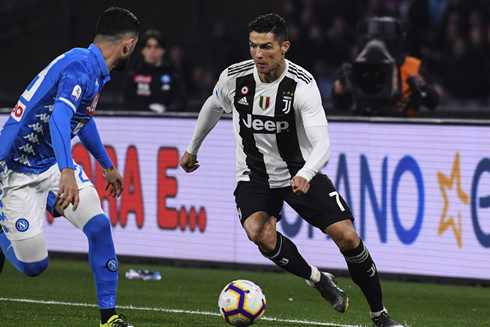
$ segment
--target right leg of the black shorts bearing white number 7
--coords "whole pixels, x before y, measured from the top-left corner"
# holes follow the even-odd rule
[[[286,202],[308,223],[325,232],[338,221],[354,220],[349,206],[337,192],[328,176],[317,174],[306,194],[297,195],[288,189]]]

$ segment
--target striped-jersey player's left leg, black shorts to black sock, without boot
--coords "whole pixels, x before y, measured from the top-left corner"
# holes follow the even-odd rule
[[[309,278],[310,265],[296,245],[276,230],[282,199],[254,183],[239,183],[234,194],[241,223],[262,255],[296,276]]]

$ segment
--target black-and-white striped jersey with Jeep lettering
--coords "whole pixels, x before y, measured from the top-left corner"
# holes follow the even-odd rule
[[[212,98],[233,114],[237,181],[290,186],[312,151],[305,127],[328,126],[313,76],[288,60],[272,83],[260,80],[253,60],[231,65],[221,73]]]

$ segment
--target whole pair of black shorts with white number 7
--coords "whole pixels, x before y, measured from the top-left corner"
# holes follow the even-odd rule
[[[294,194],[291,187],[266,188],[253,182],[239,182],[233,194],[242,225],[248,217],[258,211],[265,211],[279,221],[284,201],[304,220],[322,232],[338,221],[354,221],[349,206],[337,192],[330,178],[323,174],[313,177],[310,189],[303,195]]]

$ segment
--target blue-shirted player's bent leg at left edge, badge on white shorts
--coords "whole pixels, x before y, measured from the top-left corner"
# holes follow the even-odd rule
[[[23,174],[3,166],[0,176],[2,256],[31,277],[40,275],[49,262],[42,225],[51,173]]]

